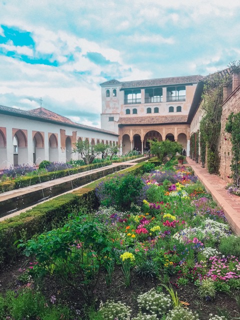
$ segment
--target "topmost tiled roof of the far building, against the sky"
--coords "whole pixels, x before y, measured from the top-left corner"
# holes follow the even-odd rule
[[[202,79],[201,75],[174,76],[169,78],[157,78],[147,80],[134,80],[119,82],[115,79],[101,83],[100,85],[121,84],[121,89],[144,88],[150,86],[178,85],[197,83]]]

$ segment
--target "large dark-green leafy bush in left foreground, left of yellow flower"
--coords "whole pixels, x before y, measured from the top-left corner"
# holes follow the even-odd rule
[[[90,304],[102,266],[113,255],[112,242],[101,231],[97,220],[87,221],[77,216],[63,227],[42,233],[18,246],[26,256],[34,255],[39,274],[56,274],[66,284],[79,291]]]

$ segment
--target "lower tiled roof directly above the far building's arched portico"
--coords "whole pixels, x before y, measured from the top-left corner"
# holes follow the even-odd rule
[[[177,115],[147,115],[134,117],[120,117],[118,124],[166,124],[166,123],[184,123],[187,120],[187,114]]]

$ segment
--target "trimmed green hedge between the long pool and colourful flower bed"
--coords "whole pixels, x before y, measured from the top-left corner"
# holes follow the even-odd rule
[[[146,162],[140,162],[123,169],[121,173],[138,173],[144,163]],[[115,173],[106,177],[113,175]],[[24,238],[24,240],[27,240],[34,234],[64,224],[69,213],[77,213],[80,210],[84,212],[95,210],[99,205],[95,195],[95,186],[106,177],[102,177],[71,193],[40,203],[19,215],[0,221],[0,268],[15,260],[19,255],[20,251],[14,244],[18,239]]]

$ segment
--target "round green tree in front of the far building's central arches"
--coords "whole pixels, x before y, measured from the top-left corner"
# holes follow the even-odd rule
[[[177,152],[181,152],[183,146],[177,141],[164,141],[149,140],[150,151],[155,154],[162,163],[169,161]]]

